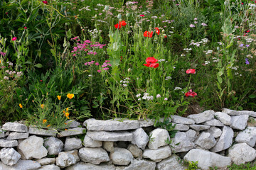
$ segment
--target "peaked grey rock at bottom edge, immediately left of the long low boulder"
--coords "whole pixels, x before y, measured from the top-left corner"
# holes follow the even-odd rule
[[[184,170],[184,169],[187,169],[188,167],[179,163],[178,162],[179,160],[180,160],[180,158],[176,154],[173,154],[173,155],[171,155],[171,157],[159,162],[156,165],[156,169],[158,169],[158,170]]]

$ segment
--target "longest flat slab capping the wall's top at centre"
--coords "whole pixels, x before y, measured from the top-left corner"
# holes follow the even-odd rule
[[[113,130],[132,130],[139,128],[138,120],[95,120],[88,119],[83,123],[87,130],[113,131]]]

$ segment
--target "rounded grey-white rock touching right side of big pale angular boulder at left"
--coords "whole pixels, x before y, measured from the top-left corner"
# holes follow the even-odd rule
[[[64,144],[56,137],[47,137],[44,140],[44,146],[48,150],[48,154],[56,155],[63,151]]]

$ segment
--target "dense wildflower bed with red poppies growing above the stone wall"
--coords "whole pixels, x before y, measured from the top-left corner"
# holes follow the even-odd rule
[[[256,111],[255,1],[0,0],[1,123]]]

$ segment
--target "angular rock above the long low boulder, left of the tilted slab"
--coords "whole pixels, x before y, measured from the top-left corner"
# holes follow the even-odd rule
[[[216,143],[213,135],[210,135],[208,132],[201,132],[198,139],[195,141],[196,145],[207,150],[214,147]]]

